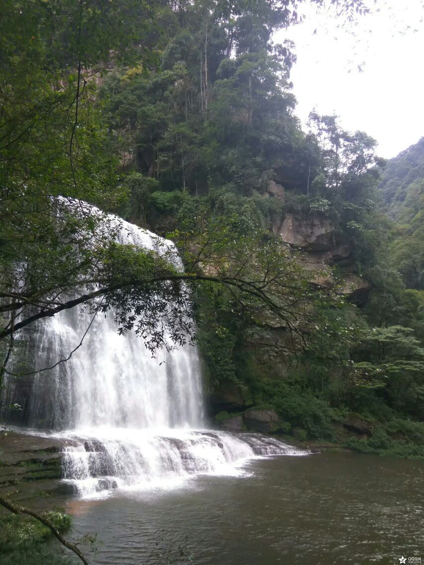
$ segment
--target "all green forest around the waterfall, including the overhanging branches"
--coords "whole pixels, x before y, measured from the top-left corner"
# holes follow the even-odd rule
[[[364,11],[334,3],[348,20]],[[375,141],[315,113],[304,132],[295,116],[294,46],[273,37],[296,3],[8,0],[4,13],[0,377],[17,331],[79,303],[113,310],[153,351],[191,338],[193,317],[209,389],[236,384],[240,410],[422,456],[422,144],[383,176],[389,249]],[[117,244],[116,220],[83,201],[170,234],[185,272]],[[330,225],[318,253],[348,259],[311,274],[285,218]],[[360,297],[346,289],[359,275]],[[369,440],[346,436],[349,417],[372,423]]]

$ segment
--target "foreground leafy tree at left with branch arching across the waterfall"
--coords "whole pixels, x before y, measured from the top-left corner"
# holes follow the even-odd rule
[[[280,11],[280,7],[265,2],[269,29],[265,32],[261,22],[254,29],[259,26],[261,33],[269,37],[272,29],[286,25],[293,14],[288,8]],[[188,7],[193,25],[197,25],[202,10],[206,13],[209,8]],[[250,14],[250,8],[244,10]],[[83,201],[97,203],[107,211],[127,197],[117,174],[122,148],[108,134],[110,106],[97,98],[94,66],[107,67],[107,58],[111,58],[113,68],[136,63],[136,67],[124,72],[123,81],[130,85],[139,76],[154,74],[165,37],[178,26],[178,14],[183,15],[186,8],[167,3],[149,6],[137,0],[110,2],[106,7],[91,6],[82,0],[68,0],[58,6],[11,0],[3,11],[0,379],[8,372],[16,332],[78,304],[86,303],[93,314],[113,308],[119,331],[136,329],[152,350],[167,346],[166,334],[174,343],[183,344],[192,333],[191,304],[185,289],[205,278],[199,268],[205,260],[204,249],[198,253],[192,270],[184,274],[175,267],[172,257],[117,244],[116,220]],[[216,7],[215,17],[226,21],[222,7]],[[240,37],[231,40],[234,46]],[[207,72],[211,72],[208,69],[205,66],[204,89]],[[178,82],[178,72],[169,71],[167,78],[161,77],[162,82],[167,86]],[[156,88],[161,92],[160,86]],[[205,94],[201,99],[205,109],[209,96]],[[147,114],[144,121],[149,135],[154,136],[155,120],[164,118],[157,115],[156,108],[142,110],[152,114],[153,121],[149,123]],[[184,145],[183,133],[179,138]],[[171,146],[170,151],[172,176],[175,148]],[[183,166],[183,190],[184,175]],[[133,188],[142,197],[152,179],[138,180],[133,179]],[[152,199],[162,211],[168,206],[166,196],[152,195]],[[129,204],[137,202],[132,194]],[[252,246],[257,245],[253,225],[250,237]],[[230,249],[233,241],[225,232],[222,238],[226,249]],[[222,248],[222,238],[216,241],[217,249]],[[244,244],[247,249],[246,240]],[[234,245],[240,247],[240,241],[234,241]],[[252,255],[243,270],[236,264],[229,268],[222,260],[220,278],[215,269],[209,279],[215,277],[218,284],[230,285],[241,301],[244,295],[265,301],[273,314],[287,319],[292,315],[287,312],[291,299],[285,296],[284,280],[291,275],[286,277],[285,268],[276,272],[276,266],[281,267],[282,262],[290,266],[290,258],[284,257],[271,241],[267,250],[269,253],[263,255],[265,268],[272,254],[275,259],[270,270],[261,270],[260,261],[253,260]],[[211,252],[210,246],[207,251]],[[249,280],[258,271],[264,273],[263,277]],[[301,277],[298,279],[301,292],[304,284]],[[273,293],[275,300],[271,298]]]

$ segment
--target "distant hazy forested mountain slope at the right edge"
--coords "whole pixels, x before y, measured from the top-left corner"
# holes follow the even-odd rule
[[[395,220],[393,266],[408,288],[424,290],[424,137],[388,161],[379,188]]]

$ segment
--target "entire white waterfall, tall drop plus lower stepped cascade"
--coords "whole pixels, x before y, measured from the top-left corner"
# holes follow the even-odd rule
[[[108,218],[120,243],[167,254],[182,268],[171,241]],[[91,320],[76,307],[38,324],[28,340],[34,367],[66,359]],[[134,332],[118,335],[109,312],[94,317],[67,362],[24,386],[10,381],[8,396],[23,402],[29,427],[63,438],[63,477],[81,496],[165,486],[199,473],[235,472],[246,458],[304,453],[258,434],[207,431],[200,373],[196,347],[153,358]]]

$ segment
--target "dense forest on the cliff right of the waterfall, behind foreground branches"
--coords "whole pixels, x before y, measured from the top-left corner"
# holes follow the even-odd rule
[[[293,46],[272,44],[270,33],[289,20],[275,21],[267,6],[240,8],[230,29],[214,4],[174,8],[156,45],[159,64],[114,69],[105,77],[100,95],[124,155],[129,192],[121,212],[171,232],[187,266],[193,249],[194,255],[204,249],[222,226],[241,236],[235,254],[223,245],[224,257],[242,264],[243,234],[259,234],[251,251],[261,238],[275,238],[287,214],[328,219],[335,245],[352,249],[351,262],[340,262],[334,275],[361,273],[372,285],[367,297],[328,302],[328,286],[311,286],[303,272],[315,306],[313,316],[310,309],[296,311],[293,325],[309,325],[293,340],[287,319],[270,324],[262,306],[246,307],[225,288],[197,288],[209,386],[236,384],[245,407],[274,407],[283,428],[301,428],[305,438],[347,441],[340,427],[347,432],[343,423],[355,414],[379,423],[390,443],[390,433],[400,433],[389,429],[396,418],[423,417],[424,367],[422,299],[405,290],[387,247],[391,224],[380,212],[384,163],[375,157],[374,140],[343,131],[335,116],[313,113],[309,131],[301,131],[289,83]],[[210,272],[222,268],[215,251],[206,262]],[[410,442],[422,446],[419,430],[405,432],[397,441],[406,447],[396,453],[408,454]],[[367,449],[380,447],[371,442]],[[422,447],[409,454],[418,453]]]

